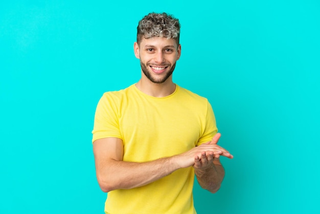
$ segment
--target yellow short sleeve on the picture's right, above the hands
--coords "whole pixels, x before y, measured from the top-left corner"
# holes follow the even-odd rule
[[[205,124],[203,124],[203,126],[204,126],[204,131],[197,142],[197,146],[201,145],[202,143],[211,141],[213,136],[215,136],[218,132],[217,125],[216,125],[216,118],[214,116],[212,106],[209,101],[207,104],[207,114],[205,117]]]

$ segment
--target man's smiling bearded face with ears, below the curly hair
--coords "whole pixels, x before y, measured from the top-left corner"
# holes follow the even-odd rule
[[[143,38],[140,46],[134,43],[134,54],[140,59],[141,70],[153,83],[172,80],[175,62],[180,58],[181,46],[173,38]],[[142,78],[145,78],[142,76]]]

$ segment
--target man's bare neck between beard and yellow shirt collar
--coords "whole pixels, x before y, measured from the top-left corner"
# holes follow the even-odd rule
[[[172,82],[171,78],[168,78],[163,83],[153,83],[150,80],[141,78],[139,82],[135,84],[141,92],[153,96],[153,97],[166,97],[175,91],[175,83]]]

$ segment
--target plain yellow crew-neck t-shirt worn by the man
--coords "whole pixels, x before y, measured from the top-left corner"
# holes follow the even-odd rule
[[[124,161],[146,162],[184,153],[217,133],[210,103],[176,85],[167,97],[152,97],[135,85],[106,92],[100,99],[93,130],[97,139],[116,137]],[[148,185],[108,192],[110,214],[194,214],[193,167],[178,169]]]

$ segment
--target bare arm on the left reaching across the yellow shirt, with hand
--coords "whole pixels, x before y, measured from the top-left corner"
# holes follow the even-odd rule
[[[123,161],[123,142],[119,138],[103,138],[94,142],[96,174],[100,188],[105,191],[143,186],[170,175],[179,168],[194,165],[194,157],[213,151],[205,144],[180,155],[149,162]]]

